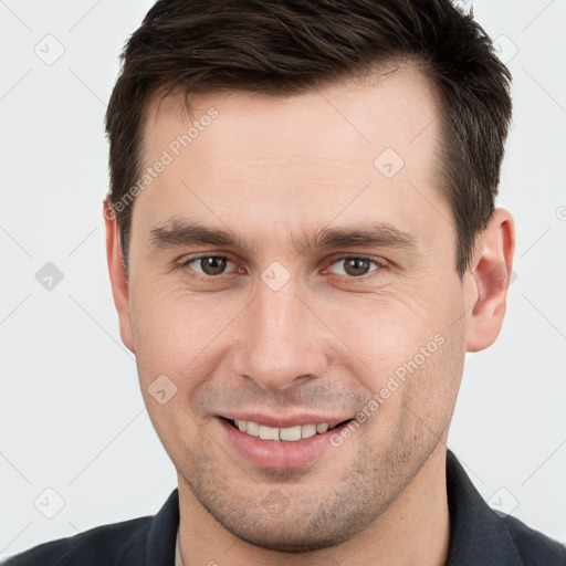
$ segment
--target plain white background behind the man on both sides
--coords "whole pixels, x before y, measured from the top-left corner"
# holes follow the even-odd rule
[[[154,514],[176,486],[119,339],[101,214],[103,115],[150,4],[0,1],[0,557]],[[474,11],[514,55],[499,203],[518,244],[502,334],[467,360],[449,447],[485,499],[566,542],[566,2]],[[59,44],[52,65],[34,52]],[[46,262],[64,274],[52,291],[35,280]],[[48,488],[64,501],[53,518],[34,506]]]

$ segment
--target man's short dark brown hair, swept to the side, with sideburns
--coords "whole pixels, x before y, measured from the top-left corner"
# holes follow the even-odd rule
[[[124,49],[108,104],[108,200],[116,205],[136,185],[146,109],[165,92],[284,96],[399,59],[417,61],[439,94],[439,189],[462,275],[494,210],[511,74],[473,14],[449,0],[159,0]],[[114,212],[126,269],[133,208]]]

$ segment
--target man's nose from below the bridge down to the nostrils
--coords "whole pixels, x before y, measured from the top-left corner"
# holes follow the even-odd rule
[[[233,370],[265,390],[282,390],[325,374],[327,332],[295,294],[293,281],[279,291],[263,282],[259,287],[242,313]]]

